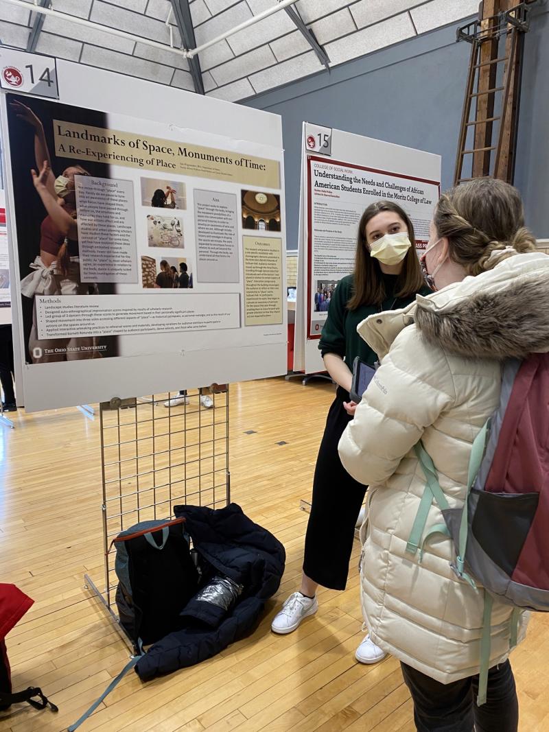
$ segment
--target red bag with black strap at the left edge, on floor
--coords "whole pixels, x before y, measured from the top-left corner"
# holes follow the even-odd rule
[[[33,602],[34,600],[27,597],[15,585],[0,583],[0,711],[23,701],[29,702],[34,709],[45,709],[46,706],[49,706],[53,712],[58,711],[55,704],[48,701],[42,691],[36,687],[12,693],[10,662],[7,660],[4,638],[29,610]]]

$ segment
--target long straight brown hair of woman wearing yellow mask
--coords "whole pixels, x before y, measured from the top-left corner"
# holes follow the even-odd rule
[[[382,211],[395,213],[403,220],[408,228],[408,238],[412,244],[395,283],[395,297],[409,297],[416,294],[425,285],[416,252],[414,225],[411,223],[410,217],[397,203],[376,201],[367,207],[359,223],[354,261],[354,288],[351,299],[347,303],[349,310],[356,310],[361,305],[381,305],[386,299],[387,294],[379,262],[370,256],[370,247],[366,241],[367,223]]]

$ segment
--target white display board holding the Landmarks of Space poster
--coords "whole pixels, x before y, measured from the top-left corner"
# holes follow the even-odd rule
[[[26,409],[285,373],[280,119],[258,141],[273,115],[175,89],[170,122],[67,104],[59,65],[61,102],[3,100]]]

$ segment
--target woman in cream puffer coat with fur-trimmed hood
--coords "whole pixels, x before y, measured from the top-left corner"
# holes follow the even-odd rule
[[[339,446],[343,466],[370,485],[362,606],[373,641],[402,664],[420,732],[516,732],[512,607],[493,600],[488,696],[477,706],[484,592],[452,570],[452,542],[434,533],[444,525],[436,501],[422,553],[408,545],[425,489],[414,446],[432,458],[449,507],[463,506],[501,362],[549,351],[549,257],[524,228],[518,191],[483,178],[442,195],[425,268],[434,294],[359,326],[383,357]],[[525,631],[523,616],[519,641]]]

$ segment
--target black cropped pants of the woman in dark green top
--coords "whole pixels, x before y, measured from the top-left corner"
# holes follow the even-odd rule
[[[343,408],[344,401],[349,401],[349,395],[338,386],[316,460],[303,561],[307,577],[335,590],[344,590],[347,583],[354,527],[367,488],[351,478],[337,452],[352,419]]]

